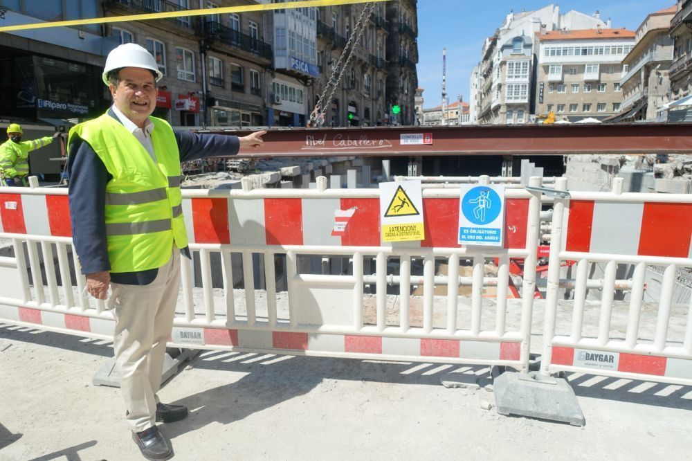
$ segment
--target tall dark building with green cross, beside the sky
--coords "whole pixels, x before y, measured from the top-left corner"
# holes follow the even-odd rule
[[[392,0],[385,5],[390,22],[387,58],[390,62],[386,82],[390,125],[413,125],[415,90],[418,88],[417,0]],[[399,107],[399,114],[392,111]]]

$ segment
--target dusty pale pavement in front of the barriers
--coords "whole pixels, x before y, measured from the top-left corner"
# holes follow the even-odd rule
[[[119,390],[92,386],[111,345],[0,325],[0,460],[139,460]],[[577,428],[483,410],[487,369],[203,352],[161,390],[176,460],[689,460],[692,388],[574,375]]]

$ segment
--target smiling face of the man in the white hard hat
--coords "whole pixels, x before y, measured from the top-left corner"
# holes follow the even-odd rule
[[[158,90],[154,74],[147,69],[125,67],[120,69],[118,76],[118,86],[109,85],[113,102],[122,114],[143,129],[156,107]]]

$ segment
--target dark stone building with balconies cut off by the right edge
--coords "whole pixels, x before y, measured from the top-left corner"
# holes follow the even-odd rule
[[[677,0],[668,34],[673,38],[673,64],[668,70],[671,101],[692,94],[692,0]],[[671,111],[670,120],[692,120],[692,109]]]

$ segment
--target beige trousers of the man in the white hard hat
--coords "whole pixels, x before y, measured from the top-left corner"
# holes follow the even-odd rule
[[[180,251],[158,269],[148,285],[111,284],[116,317],[113,348],[120,376],[120,390],[127,408],[127,424],[133,432],[156,423],[156,392],[161,388],[166,342],[173,329],[180,289]]]

